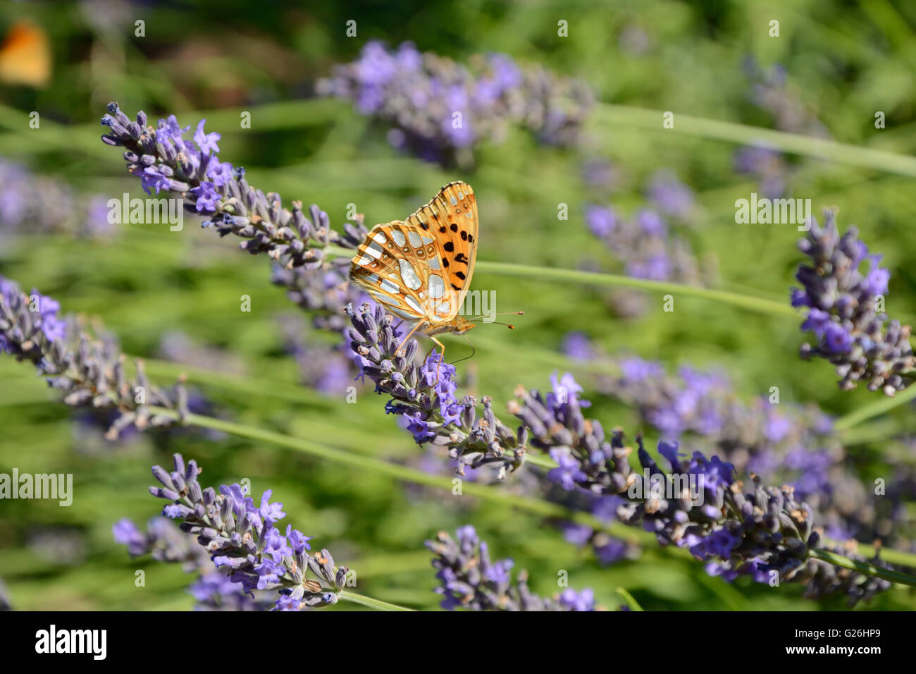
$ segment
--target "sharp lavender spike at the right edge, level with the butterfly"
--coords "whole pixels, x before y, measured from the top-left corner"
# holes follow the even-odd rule
[[[802,330],[811,330],[817,343],[802,345],[802,358],[819,356],[836,366],[840,388],[867,381],[869,391],[893,395],[909,385],[916,359],[910,345],[910,326],[900,326],[878,313],[878,295],[888,292],[890,272],[879,267],[881,256],[868,255],[855,227],[840,237],[836,214],[824,214],[824,226],[812,223],[799,249],[812,264],[799,267],[795,278],[802,289],[792,289],[792,306],[808,307]],[[868,271],[860,271],[862,262]]]

